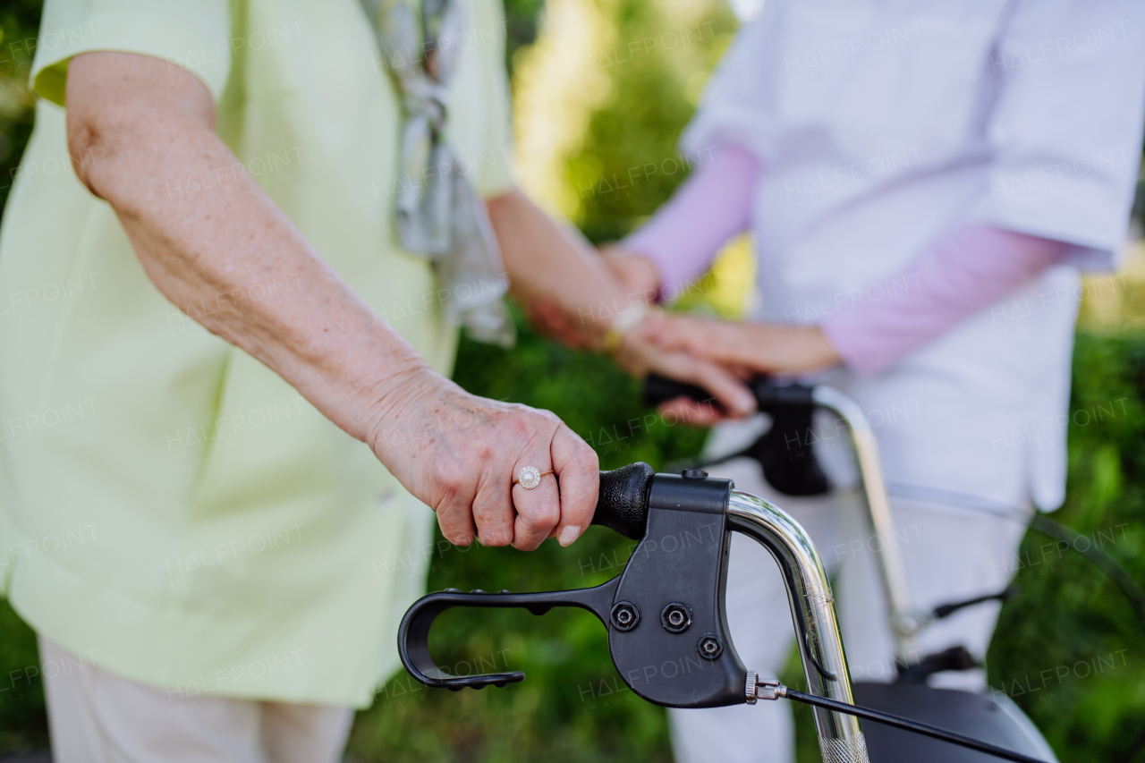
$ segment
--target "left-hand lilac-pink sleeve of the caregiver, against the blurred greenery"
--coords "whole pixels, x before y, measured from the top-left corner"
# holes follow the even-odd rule
[[[698,167],[652,220],[623,242],[650,259],[660,273],[661,296],[711,265],[729,238],[748,227],[759,163],[745,148],[726,144]]]

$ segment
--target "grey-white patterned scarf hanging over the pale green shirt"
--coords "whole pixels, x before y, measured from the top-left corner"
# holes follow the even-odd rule
[[[484,204],[458,171],[457,154],[445,136],[464,9],[459,0],[362,5],[404,110],[394,205],[402,247],[433,262],[439,283],[448,290],[448,318],[477,341],[511,347],[514,331],[502,301],[508,283],[500,247]]]

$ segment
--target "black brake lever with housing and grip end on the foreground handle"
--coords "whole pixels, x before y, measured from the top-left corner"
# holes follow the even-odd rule
[[[441,669],[429,654],[434,620],[451,607],[544,614],[570,606],[605,624],[613,664],[639,697],[668,707],[743,703],[748,671],[724,611],[731,491],[731,480],[708,479],[704,472],[655,474],[647,464],[601,472],[593,524],[640,541],[619,576],[569,591],[429,593],[402,619],[402,664],[423,684],[452,691],[523,681],[521,671],[453,676]]]

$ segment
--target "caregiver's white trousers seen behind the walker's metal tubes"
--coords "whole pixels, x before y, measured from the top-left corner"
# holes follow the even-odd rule
[[[866,503],[858,489],[827,496],[783,496],[763,480],[756,462],[745,458],[709,470],[735,480],[736,489],[755,493],[788,511],[811,534],[835,580],[834,591],[851,677],[855,682],[890,682],[895,676],[894,640]],[[1006,585],[1011,560],[1025,526],[964,509],[891,501],[895,543],[905,557],[916,608],[993,593]],[[791,654],[793,626],[787,591],[771,554],[755,541],[733,534],[727,582],[727,620],[732,640],[748,670],[776,677]],[[985,659],[1001,605],[980,604],[922,631],[923,654],[965,646]],[[922,656],[922,655],[919,655]],[[931,685],[985,689],[982,670],[938,674]],[[703,710],[669,710],[672,747],[679,763],[793,763],[791,711],[785,700]]]

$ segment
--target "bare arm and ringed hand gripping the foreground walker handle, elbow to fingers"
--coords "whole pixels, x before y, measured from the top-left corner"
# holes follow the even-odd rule
[[[589,525],[592,449],[552,414],[475,398],[431,370],[242,171],[195,74],[143,55],[86,53],[70,62],[66,102],[76,174],[111,205],[156,288],[372,446],[439,512],[450,541],[476,533],[535,549]],[[216,181],[211,191],[172,192],[203,178]],[[246,298],[287,282],[303,288]],[[222,367],[222,352],[203,352]],[[561,490],[551,474],[532,490],[511,488],[521,466],[554,470]]]

